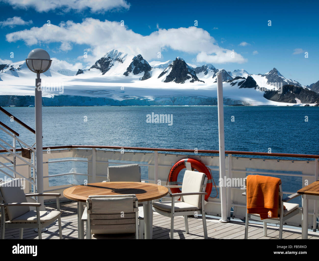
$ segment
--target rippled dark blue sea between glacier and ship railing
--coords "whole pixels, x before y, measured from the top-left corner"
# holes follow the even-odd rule
[[[5,109],[34,128],[34,108]],[[43,107],[42,113],[43,146],[219,147],[216,106]],[[172,115],[173,124],[147,123],[152,113]],[[224,120],[226,150],[268,152],[271,148],[272,153],[319,154],[319,107],[225,106]],[[0,121],[28,144],[35,142],[33,133],[8,116],[0,114]],[[50,175],[58,174],[51,169]],[[214,171],[216,178],[218,183]],[[299,184],[298,177],[296,181]],[[291,182],[286,181],[288,187]]]

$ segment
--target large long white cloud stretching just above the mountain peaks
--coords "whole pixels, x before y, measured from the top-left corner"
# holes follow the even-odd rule
[[[137,34],[120,22],[86,18],[82,23],[67,21],[59,26],[51,24],[42,27],[32,27],[6,35],[9,42],[25,41],[27,45],[60,42],[61,50],[68,50],[71,44],[86,44],[92,49],[90,58],[95,62],[110,49],[117,49],[131,54],[141,54],[146,60],[157,58],[158,52],[167,48],[189,54],[199,54],[197,62],[214,60],[219,63],[246,61],[241,55],[231,50],[219,47],[215,39],[204,29],[196,26],[188,28],[161,29],[143,36]],[[205,54],[205,55],[203,55]],[[229,57],[228,57],[229,56]]]

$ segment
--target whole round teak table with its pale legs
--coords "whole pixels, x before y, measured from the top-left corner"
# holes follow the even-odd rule
[[[82,222],[83,205],[90,195],[123,195],[135,194],[138,202],[144,205],[145,239],[152,239],[152,200],[167,195],[168,189],[152,183],[144,182],[99,182],[78,185],[63,191],[66,198],[78,202],[78,238],[84,238],[84,222]],[[90,233],[90,232],[86,232]]]

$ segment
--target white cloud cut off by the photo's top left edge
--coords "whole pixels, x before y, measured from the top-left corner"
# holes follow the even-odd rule
[[[83,11],[89,8],[92,12],[105,12],[113,9],[129,9],[125,0],[2,0],[13,8],[34,8],[38,12],[62,9],[63,11]]]

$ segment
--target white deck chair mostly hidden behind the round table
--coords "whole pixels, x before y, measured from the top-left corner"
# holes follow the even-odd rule
[[[138,164],[128,164],[108,167],[108,182],[141,182],[141,167]],[[103,181],[107,182],[107,181]],[[138,205],[139,237],[144,234],[144,209],[143,204]]]

